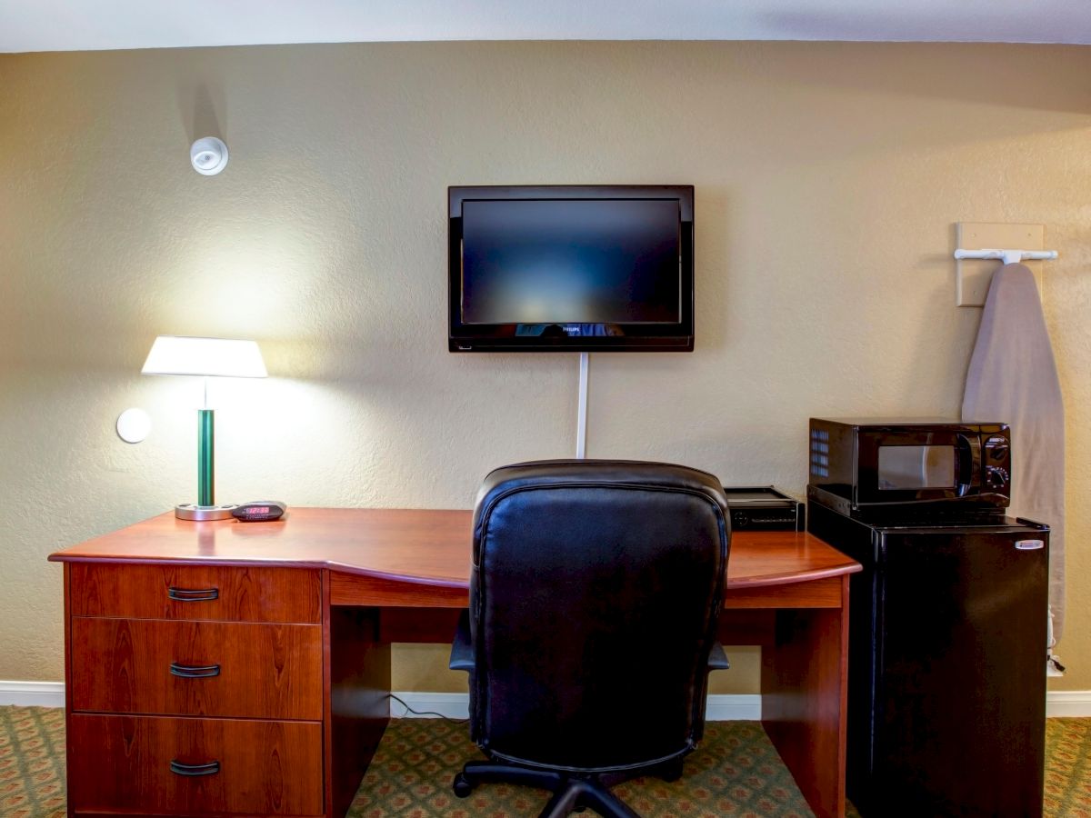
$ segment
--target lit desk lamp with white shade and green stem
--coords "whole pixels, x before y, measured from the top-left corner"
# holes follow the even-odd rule
[[[152,345],[141,372],[145,375],[204,377],[204,408],[197,409],[197,502],[175,506],[175,516],[183,520],[229,518],[235,506],[218,506],[214,500],[215,417],[208,408],[208,378],[266,377],[268,373],[257,342],[160,335]]]

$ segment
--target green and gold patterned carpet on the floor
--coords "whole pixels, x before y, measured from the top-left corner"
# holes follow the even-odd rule
[[[491,784],[455,798],[451,779],[479,757],[465,725],[434,719],[391,722],[364,777],[352,818],[521,818],[546,794]],[[757,722],[710,722],[683,778],[637,779],[616,792],[645,818],[810,816],[795,783]],[[1091,818],[1091,719],[1046,723],[1045,815]],[[592,815],[588,811],[585,815]],[[853,811],[850,809],[849,815]],[[0,707],[0,816],[64,816],[64,713]]]

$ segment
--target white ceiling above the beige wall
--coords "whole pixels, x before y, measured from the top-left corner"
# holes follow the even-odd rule
[[[1091,0],[0,0],[0,51],[452,39],[1091,44]]]

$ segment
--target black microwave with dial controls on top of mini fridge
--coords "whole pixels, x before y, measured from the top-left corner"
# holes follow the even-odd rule
[[[812,418],[807,500],[858,519],[1003,514],[1011,500],[1006,423]]]

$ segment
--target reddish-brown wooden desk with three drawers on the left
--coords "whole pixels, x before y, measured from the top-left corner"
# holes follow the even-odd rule
[[[164,514],[64,563],[69,815],[344,815],[389,719],[389,643],[451,640],[470,512]],[[849,574],[805,533],[736,532],[720,638],[762,645],[762,721],[844,814]]]

